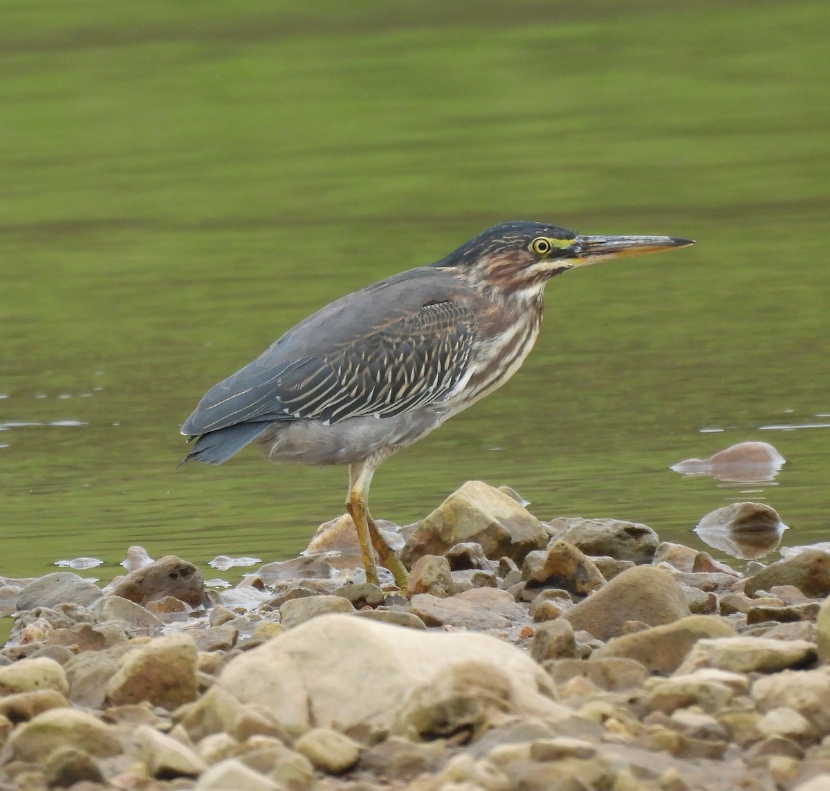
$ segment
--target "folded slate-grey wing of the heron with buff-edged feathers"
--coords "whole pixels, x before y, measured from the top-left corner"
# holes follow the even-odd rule
[[[476,332],[457,285],[425,267],[336,300],[211,388],[182,433],[392,417],[442,401],[466,375]]]

